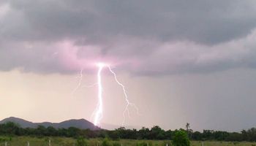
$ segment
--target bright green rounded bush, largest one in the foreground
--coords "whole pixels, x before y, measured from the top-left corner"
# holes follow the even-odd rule
[[[189,146],[189,137],[187,136],[186,131],[176,131],[173,137],[173,145],[174,146]]]

